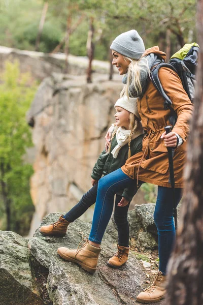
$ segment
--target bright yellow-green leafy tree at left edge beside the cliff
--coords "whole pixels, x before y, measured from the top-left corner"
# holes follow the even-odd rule
[[[21,234],[28,230],[34,210],[29,195],[29,178],[33,170],[23,163],[23,156],[26,148],[32,145],[25,113],[35,90],[35,84],[30,86],[29,75],[20,74],[17,62],[6,64],[0,85],[0,206],[5,220],[3,192],[6,192],[11,202],[11,229]]]

